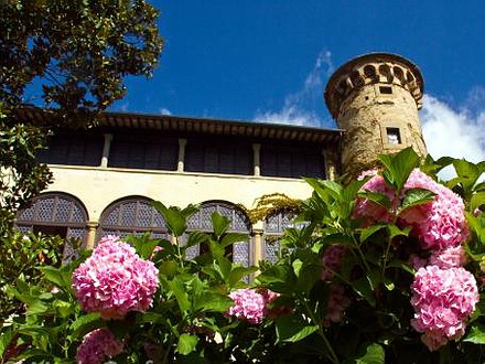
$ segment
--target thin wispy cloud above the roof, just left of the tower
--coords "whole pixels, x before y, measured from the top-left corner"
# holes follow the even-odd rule
[[[324,77],[322,75],[327,78],[334,69],[332,53],[322,50],[302,88],[284,98],[281,110],[258,111],[255,121],[321,127],[324,124],[322,114]]]

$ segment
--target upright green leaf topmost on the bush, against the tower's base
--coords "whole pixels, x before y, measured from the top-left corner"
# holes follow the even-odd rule
[[[419,157],[412,148],[403,149],[397,154],[381,154],[379,159],[386,168],[382,172],[384,179],[397,192],[402,190],[409,174],[419,163]]]

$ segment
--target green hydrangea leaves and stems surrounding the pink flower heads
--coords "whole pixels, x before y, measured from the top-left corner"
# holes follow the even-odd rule
[[[313,195],[304,202],[294,226],[280,239],[281,257],[274,264],[260,263],[260,274],[249,285],[245,279],[256,268],[233,264],[225,255],[228,245],[242,239],[239,234],[227,233],[226,217],[213,214],[213,233],[188,233],[186,221],[195,206],[181,210],[155,203],[174,240],[154,240],[149,235],[130,240],[160,271],[160,290],[152,309],[108,322],[97,314],[82,313],[68,290],[75,265],[43,268],[45,280],[40,285],[19,279],[17,287],[9,286],[8,291],[25,303],[26,312],[11,328],[2,330],[0,354],[12,343],[19,347],[26,344],[24,357],[68,363],[85,333],[107,325],[125,340],[126,352],[114,358],[123,363],[484,362],[484,300],[466,322],[466,334],[439,351],[430,352],[421,342],[421,334],[411,326],[414,311],[410,287],[416,269],[410,256],[425,256],[427,251],[420,249],[411,228],[399,224],[398,216],[407,208],[429,203],[434,195],[424,189],[402,193],[406,179],[418,163],[408,150],[384,159],[391,168],[379,173],[399,195],[386,200],[379,194],[360,192],[365,181],[344,186],[309,180]],[[484,298],[482,167],[452,159],[448,162],[457,171],[450,186],[464,197],[471,228],[465,246],[466,269],[477,278]],[[439,170],[436,165],[423,168]],[[363,225],[355,220],[356,200],[364,197],[386,208],[391,216],[389,222]],[[197,244],[206,249],[196,258],[186,259],[187,249]],[[322,279],[322,257],[335,245],[343,247],[341,265],[330,267],[332,275]],[[153,253],[155,246],[163,249]],[[45,292],[45,282],[58,287],[60,292]],[[228,293],[248,286],[280,293],[260,324],[225,315],[231,304]],[[348,300],[338,320],[328,317],[335,288]]]

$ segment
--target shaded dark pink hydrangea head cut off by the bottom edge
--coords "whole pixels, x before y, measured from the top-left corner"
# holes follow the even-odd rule
[[[84,336],[77,347],[76,361],[79,364],[101,364],[123,351],[123,343],[106,328],[97,329]]]

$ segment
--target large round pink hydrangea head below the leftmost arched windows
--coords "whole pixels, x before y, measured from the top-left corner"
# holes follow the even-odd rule
[[[73,289],[86,312],[103,319],[122,319],[130,311],[147,311],[159,287],[159,270],[141,259],[117,236],[101,239],[91,256],[73,274]]]

